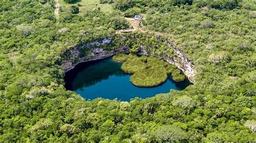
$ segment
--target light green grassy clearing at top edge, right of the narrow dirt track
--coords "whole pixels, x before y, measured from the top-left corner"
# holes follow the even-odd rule
[[[81,0],[78,3],[82,5],[82,6],[79,6],[79,13],[80,14],[88,12],[88,11],[92,11],[92,10],[95,10],[95,9],[98,9],[98,8],[100,8],[100,10],[105,12],[105,13],[113,11],[113,8],[112,8],[111,4],[100,4],[99,0]],[[68,3],[65,3],[64,0],[59,0],[59,4],[62,7],[77,5],[78,3],[68,4]]]

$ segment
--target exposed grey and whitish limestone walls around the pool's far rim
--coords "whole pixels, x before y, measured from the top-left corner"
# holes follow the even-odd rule
[[[112,43],[112,39],[104,38],[104,39],[86,44],[86,47],[89,47],[90,49],[90,52],[89,52],[90,54],[82,58],[79,58],[79,55],[80,55],[79,49],[85,48],[85,45],[80,47],[71,47],[70,48],[71,57],[69,60],[64,60],[62,62],[63,69],[65,70],[65,72],[67,72],[73,69],[76,65],[78,65],[81,62],[100,60],[100,59],[108,58],[118,53],[129,53],[130,47],[127,47],[127,46],[122,46],[112,51],[108,51],[104,48],[100,48],[101,45],[106,46],[106,45],[110,45],[111,43]],[[172,58],[169,58],[167,55],[166,56],[152,55],[149,51],[147,51],[147,49],[144,46],[140,47],[139,54],[157,56],[158,58],[164,59],[165,61],[171,63],[172,65],[176,65],[188,77],[188,80],[190,80],[191,83],[194,83],[195,71],[194,71],[193,62],[184,55],[183,51],[181,51],[178,47],[172,44],[172,42],[167,42],[167,45],[169,45],[174,49],[175,56]]]

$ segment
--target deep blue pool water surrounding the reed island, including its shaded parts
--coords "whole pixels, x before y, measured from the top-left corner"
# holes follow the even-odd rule
[[[167,81],[157,87],[136,87],[130,82],[130,74],[120,69],[122,63],[112,58],[79,63],[65,74],[65,87],[75,91],[85,99],[106,98],[130,101],[131,98],[147,98],[170,92],[171,89],[183,90],[190,81],[175,82],[169,75]]]

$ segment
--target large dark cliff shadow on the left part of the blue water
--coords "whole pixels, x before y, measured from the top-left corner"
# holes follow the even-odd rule
[[[65,87],[68,90],[77,90],[90,87],[102,80],[107,80],[111,75],[125,76],[120,70],[122,63],[113,62],[111,58],[79,63],[65,75]]]

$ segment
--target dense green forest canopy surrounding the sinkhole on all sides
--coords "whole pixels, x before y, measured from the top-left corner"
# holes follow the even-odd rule
[[[100,3],[112,12],[70,6],[57,16],[53,0],[0,2],[0,142],[256,142],[255,1]],[[151,34],[120,39],[115,31],[130,27],[123,16],[133,11],[145,13]],[[136,53],[141,40],[161,54],[154,32],[194,62],[195,84],[130,102],[87,101],[64,88],[70,47],[112,37],[104,48],[125,41]]]

